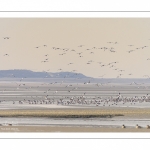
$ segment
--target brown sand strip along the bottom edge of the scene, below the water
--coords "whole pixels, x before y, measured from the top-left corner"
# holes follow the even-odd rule
[[[150,132],[150,129],[60,126],[0,126],[0,132]]]

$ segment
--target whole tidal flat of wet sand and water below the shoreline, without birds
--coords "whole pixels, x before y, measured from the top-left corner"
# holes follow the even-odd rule
[[[41,85],[41,83],[25,83],[25,87],[16,88],[15,83],[3,83],[0,87],[0,132],[149,132],[150,100],[135,104],[122,102],[103,106],[96,104],[59,104],[57,100],[68,100],[73,96],[85,94],[87,101],[92,99],[116,96],[118,92],[124,97],[143,96],[149,93],[149,87],[115,85],[97,87],[95,84],[79,84],[76,90],[68,92],[77,85]],[[29,87],[32,88],[29,88]],[[38,87],[40,86],[40,87]],[[48,89],[50,91],[47,91]],[[58,91],[55,93],[55,91]],[[45,91],[47,91],[45,93]],[[29,104],[28,100],[43,100],[48,95],[54,103]],[[19,104],[19,101],[24,101]],[[14,102],[14,104],[13,104]],[[110,105],[110,106],[109,106]],[[98,118],[98,119],[96,119]],[[90,120],[91,119],[91,120]],[[92,120],[93,119],[93,120]],[[126,128],[122,129],[122,124]],[[136,129],[138,124],[141,128]]]

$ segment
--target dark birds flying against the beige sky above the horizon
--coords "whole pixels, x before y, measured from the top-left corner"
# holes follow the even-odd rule
[[[4,40],[10,40],[10,37],[3,37]],[[96,50],[103,50],[103,51],[109,51],[111,53],[116,53],[117,51],[115,50],[115,48],[113,47],[113,45],[116,45],[116,44],[119,44],[118,42],[107,42],[107,44],[110,45],[110,47],[92,47],[92,48],[85,48],[85,45],[79,45],[77,48],[80,48],[81,52],[77,52],[75,49],[70,49],[70,48],[60,48],[60,47],[52,47],[52,50],[54,51],[59,51],[59,55],[60,56],[64,56],[64,55],[67,55],[68,52],[74,52],[72,53],[73,56],[77,55],[79,56],[79,58],[82,58],[84,57],[84,52],[85,51],[89,51],[89,54],[91,55],[94,55],[95,51]],[[133,53],[134,51],[139,51],[139,50],[143,50],[143,49],[146,49],[148,48],[148,46],[144,45],[144,46],[141,46],[141,47],[136,47],[134,48],[135,46],[134,45],[127,45],[130,50],[127,51],[127,53]],[[48,45],[44,44],[42,46],[36,46],[35,48],[36,49],[40,49],[42,47],[45,47],[45,48],[48,48]],[[3,56],[10,56],[8,53],[4,54]],[[44,60],[41,60],[41,63],[48,63],[49,62],[49,54],[45,54],[45,59]],[[11,57],[11,56],[10,56]],[[61,59],[61,58],[60,58]],[[147,58],[147,60],[150,60],[150,58]],[[78,61],[80,61],[80,59],[78,59]],[[104,62],[95,62],[95,60],[88,60],[86,62],[86,65],[90,65],[92,63],[98,63],[99,66],[101,68],[104,68],[104,67],[108,67],[114,71],[116,71],[116,74],[117,74],[117,78],[120,78],[122,75],[123,75],[123,72],[125,72],[124,69],[120,69],[118,67],[116,67],[117,64],[119,64],[119,62],[117,61],[114,61],[114,62],[109,62],[109,63],[104,63]],[[73,66],[73,64],[75,65],[75,63],[73,62],[69,62],[67,65],[70,66],[73,68],[75,66]],[[50,70],[50,69],[49,69]],[[46,70],[44,72],[46,73],[49,73],[48,71],[49,70]],[[63,71],[62,68],[58,69],[58,71]],[[76,70],[74,69],[72,72],[75,72]],[[106,74],[104,75],[100,75],[98,77],[104,77]],[[131,76],[133,75],[132,73],[127,73],[126,75],[128,76]],[[143,75],[143,77],[147,77],[150,79],[150,76],[149,75]]]

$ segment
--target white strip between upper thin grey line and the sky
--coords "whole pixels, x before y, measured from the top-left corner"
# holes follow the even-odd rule
[[[0,12],[0,18],[150,18],[150,12]]]

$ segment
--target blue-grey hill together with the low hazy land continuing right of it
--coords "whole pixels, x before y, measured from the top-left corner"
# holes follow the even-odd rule
[[[24,81],[47,81],[53,82],[53,79],[57,82],[61,82],[62,78],[67,79],[65,82],[78,82],[84,83],[99,83],[101,86],[115,84],[130,84],[130,85],[145,85],[150,84],[150,79],[147,78],[92,78],[87,77],[81,73],[73,72],[34,72],[31,70],[0,70],[0,80],[16,80],[17,78],[26,78]],[[34,79],[34,80],[33,80]],[[41,79],[41,80],[40,80]],[[79,80],[74,80],[79,79]],[[81,80],[82,79],[82,80]],[[144,84],[143,84],[144,83]]]

